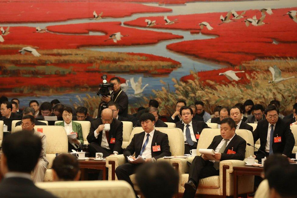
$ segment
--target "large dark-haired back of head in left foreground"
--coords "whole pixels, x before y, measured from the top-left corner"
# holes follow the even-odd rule
[[[12,133],[2,143],[5,156],[3,163],[7,165],[8,171],[30,173],[37,164],[41,146],[40,137],[32,132],[19,131]]]

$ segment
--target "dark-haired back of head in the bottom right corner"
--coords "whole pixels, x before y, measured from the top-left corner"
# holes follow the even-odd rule
[[[266,161],[265,161],[266,164]],[[264,165],[265,167],[265,165]],[[296,197],[297,166],[273,167],[267,173],[270,197]]]

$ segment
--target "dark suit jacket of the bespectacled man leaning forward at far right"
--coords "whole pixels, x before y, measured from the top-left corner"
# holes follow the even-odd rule
[[[267,142],[268,133],[268,121],[260,120],[258,122],[257,128],[253,132],[254,143],[260,138],[260,148],[259,150],[265,151],[265,145]],[[293,133],[290,129],[290,124],[281,118],[278,118],[274,127],[274,137],[281,137],[281,142],[272,143],[273,153],[280,153],[286,156],[290,156],[295,144],[295,139]]]

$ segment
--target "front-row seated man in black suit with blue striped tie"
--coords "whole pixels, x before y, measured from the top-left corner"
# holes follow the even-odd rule
[[[127,157],[135,160],[140,155],[145,159],[146,163],[150,163],[155,162],[161,157],[171,156],[167,134],[157,131],[154,128],[155,116],[151,113],[144,113],[140,116],[139,121],[144,131],[134,135],[131,143],[123,153],[127,163],[118,166],[115,170],[117,179],[127,181],[132,188],[133,184],[129,175],[132,175],[135,169],[141,164],[128,161]],[[134,153],[135,157],[132,156]]]

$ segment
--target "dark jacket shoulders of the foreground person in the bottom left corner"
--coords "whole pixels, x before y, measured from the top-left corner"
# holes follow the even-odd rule
[[[37,188],[34,183],[26,178],[10,177],[3,179],[0,183],[0,197],[19,198],[19,197],[55,197],[45,190]]]

